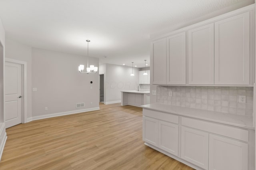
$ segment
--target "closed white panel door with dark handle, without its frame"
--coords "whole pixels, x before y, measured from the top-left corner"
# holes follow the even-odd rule
[[[6,128],[22,123],[22,67],[5,63],[5,124]]]

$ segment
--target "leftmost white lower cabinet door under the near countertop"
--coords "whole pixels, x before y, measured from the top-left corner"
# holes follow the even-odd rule
[[[158,146],[158,121],[143,116],[142,138],[145,142]]]

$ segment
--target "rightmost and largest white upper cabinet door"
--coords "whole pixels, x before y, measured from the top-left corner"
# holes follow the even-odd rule
[[[214,23],[214,84],[249,85],[249,12]]]

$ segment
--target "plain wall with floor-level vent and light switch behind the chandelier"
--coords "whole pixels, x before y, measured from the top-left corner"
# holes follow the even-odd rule
[[[78,65],[86,65],[86,59],[82,55],[32,48],[32,87],[37,88],[32,92],[33,117],[99,107],[98,73],[78,72]],[[89,61],[98,66],[98,58],[90,57]],[[76,108],[76,103],[85,103],[85,107]]]

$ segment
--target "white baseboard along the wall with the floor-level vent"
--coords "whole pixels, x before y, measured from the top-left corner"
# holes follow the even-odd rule
[[[89,108],[89,109],[81,109],[81,110],[68,111],[68,112],[53,113],[53,114],[42,115],[42,116],[35,116],[35,117],[28,118],[28,120],[29,121],[35,121],[35,120],[46,119],[46,118],[51,118],[51,117],[72,115],[72,114],[76,114],[76,113],[83,113],[83,112],[97,111],[97,110],[100,110],[100,107],[93,107],[93,108]]]

